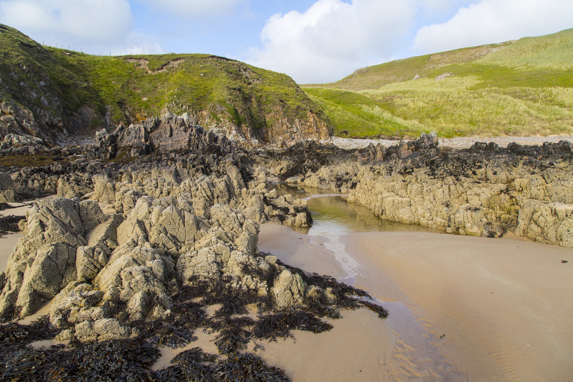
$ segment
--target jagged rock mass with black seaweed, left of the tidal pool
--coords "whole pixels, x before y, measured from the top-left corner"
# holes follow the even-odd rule
[[[101,132],[97,147],[3,150],[5,158],[49,155],[52,163],[0,174],[1,202],[34,200],[18,223],[25,237],[0,274],[0,317],[11,322],[0,326],[2,375],[88,380],[97,370],[111,379],[125,373],[125,380],[282,381],[288,376],[280,369],[242,353],[249,343],[293,329],[329,330],[321,317],[339,318],[340,309],[386,317],[362,290],[258,251],[260,223],[312,223],[305,201],[270,190],[270,168],[252,152],[180,117],[165,120],[168,148],[123,145],[125,135]],[[175,125],[185,139],[170,139]],[[48,316],[15,323],[46,301]],[[218,332],[221,357],[196,348],[150,370],[158,346],[186,346],[200,328]],[[68,344],[65,351],[26,347],[50,338]],[[123,360],[124,369],[105,369],[104,354]]]

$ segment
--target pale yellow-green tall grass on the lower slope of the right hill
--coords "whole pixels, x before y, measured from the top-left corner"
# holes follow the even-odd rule
[[[421,79],[361,93],[386,105],[394,116],[416,121],[425,130],[434,129],[444,136],[571,133],[573,93],[569,89],[469,90],[476,82],[476,77],[469,76]],[[540,96],[528,99],[524,93]]]

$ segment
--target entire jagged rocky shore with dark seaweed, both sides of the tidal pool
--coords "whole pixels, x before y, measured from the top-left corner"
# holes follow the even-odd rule
[[[347,150],[307,140],[249,149],[170,114],[97,132],[91,145],[48,148],[12,138],[0,149],[7,161],[0,202],[37,200],[19,221],[25,237],[0,274],[0,316],[15,322],[52,302],[43,321],[2,326],[5,358],[45,338],[74,351],[96,352],[105,341],[178,348],[204,328],[219,332],[215,344],[231,360],[255,339],[329,330],[320,318],[340,317],[339,309],[366,307],[386,317],[362,290],[257,250],[260,223],[312,224],[306,202],[278,196],[273,182],[350,194],[349,202],[383,219],[492,238],[513,231],[573,247],[567,141],[452,149],[439,147],[434,133],[390,147]],[[221,307],[208,316],[214,304]],[[248,312],[258,312],[257,320]],[[33,333],[18,339],[14,330]],[[193,357],[162,373],[193,375],[207,356]],[[222,378],[217,370],[227,361],[208,357],[210,375]],[[288,378],[256,356],[245,362],[273,380]],[[54,363],[46,365],[43,372],[53,372]]]

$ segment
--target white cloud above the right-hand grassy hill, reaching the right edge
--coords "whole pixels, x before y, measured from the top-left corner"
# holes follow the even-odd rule
[[[483,0],[448,22],[424,26],[414,38],[422,53],[540,36],[573,27],[571,0]]]

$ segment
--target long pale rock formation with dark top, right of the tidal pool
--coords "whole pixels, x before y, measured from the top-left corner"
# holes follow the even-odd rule
[[[435,134],[391,147],[343,150],[299,143],[267,151],[258,163],[297,183],[349,193],[383,219],[500,237],[511,230],[533,241],[572,247],[573,151],[568,142],[541,146],[477,142],[437,145]]]

